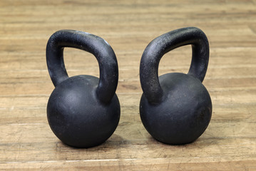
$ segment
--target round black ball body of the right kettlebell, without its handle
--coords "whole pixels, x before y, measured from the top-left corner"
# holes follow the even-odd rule
[[[212,102],[203,84],[184,73],[159,77],[163,100],[149,103],[140,99],[140,119],[156,140],[170,145],[183,145],[197,140],[210,123]]]

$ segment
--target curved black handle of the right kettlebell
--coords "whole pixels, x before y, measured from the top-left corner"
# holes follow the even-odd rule
[[[163,98],[163,89],[158,79],[158,66],[165,53],[180,46],[191,44],[192,61],[188,75],[205,78],[209,61],[209,43],[205,33],[199,28],[180,28],[165,33],[151,41],[140,61],[140,84],[149,103],[157,104]]]

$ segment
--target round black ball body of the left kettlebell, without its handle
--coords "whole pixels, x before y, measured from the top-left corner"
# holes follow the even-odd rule
[[[53,133],[66,145],[100,145],[116,130],[120,104],[115,94],[109,103],[96,96],[98,78],[74,76],[60,83],[47,105],[48,123]]]

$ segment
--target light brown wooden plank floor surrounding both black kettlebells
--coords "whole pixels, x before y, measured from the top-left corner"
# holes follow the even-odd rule
[[[210,42],[203,83],[213,118],[195,142],[165,145],[140,122],[140,57],[153,38],[186,26],[201,28]],[[121,120],[98,147],[68,147],[47,123],[54,87],[45,50],[59,29],[101,36],[118,58]],[[255,0],[1,0],[0,170],[256,170],[255,54]],[[66,48],[64,55],[70,76],[98,76],[91,54]],[[160,75],[188,72],[190,58],[190,46],[166,54]]]

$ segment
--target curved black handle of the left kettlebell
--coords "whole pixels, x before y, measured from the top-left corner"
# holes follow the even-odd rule
[[[65,47],[78,48],[96,57],[100,68],[96,95],[101,102],[108,103],[118,85],[118,62],[111,46],[103,38],[83,31],[61,30],[53,33],[46,46],[46,61],[54,86],[69,78],[63,61]]]

